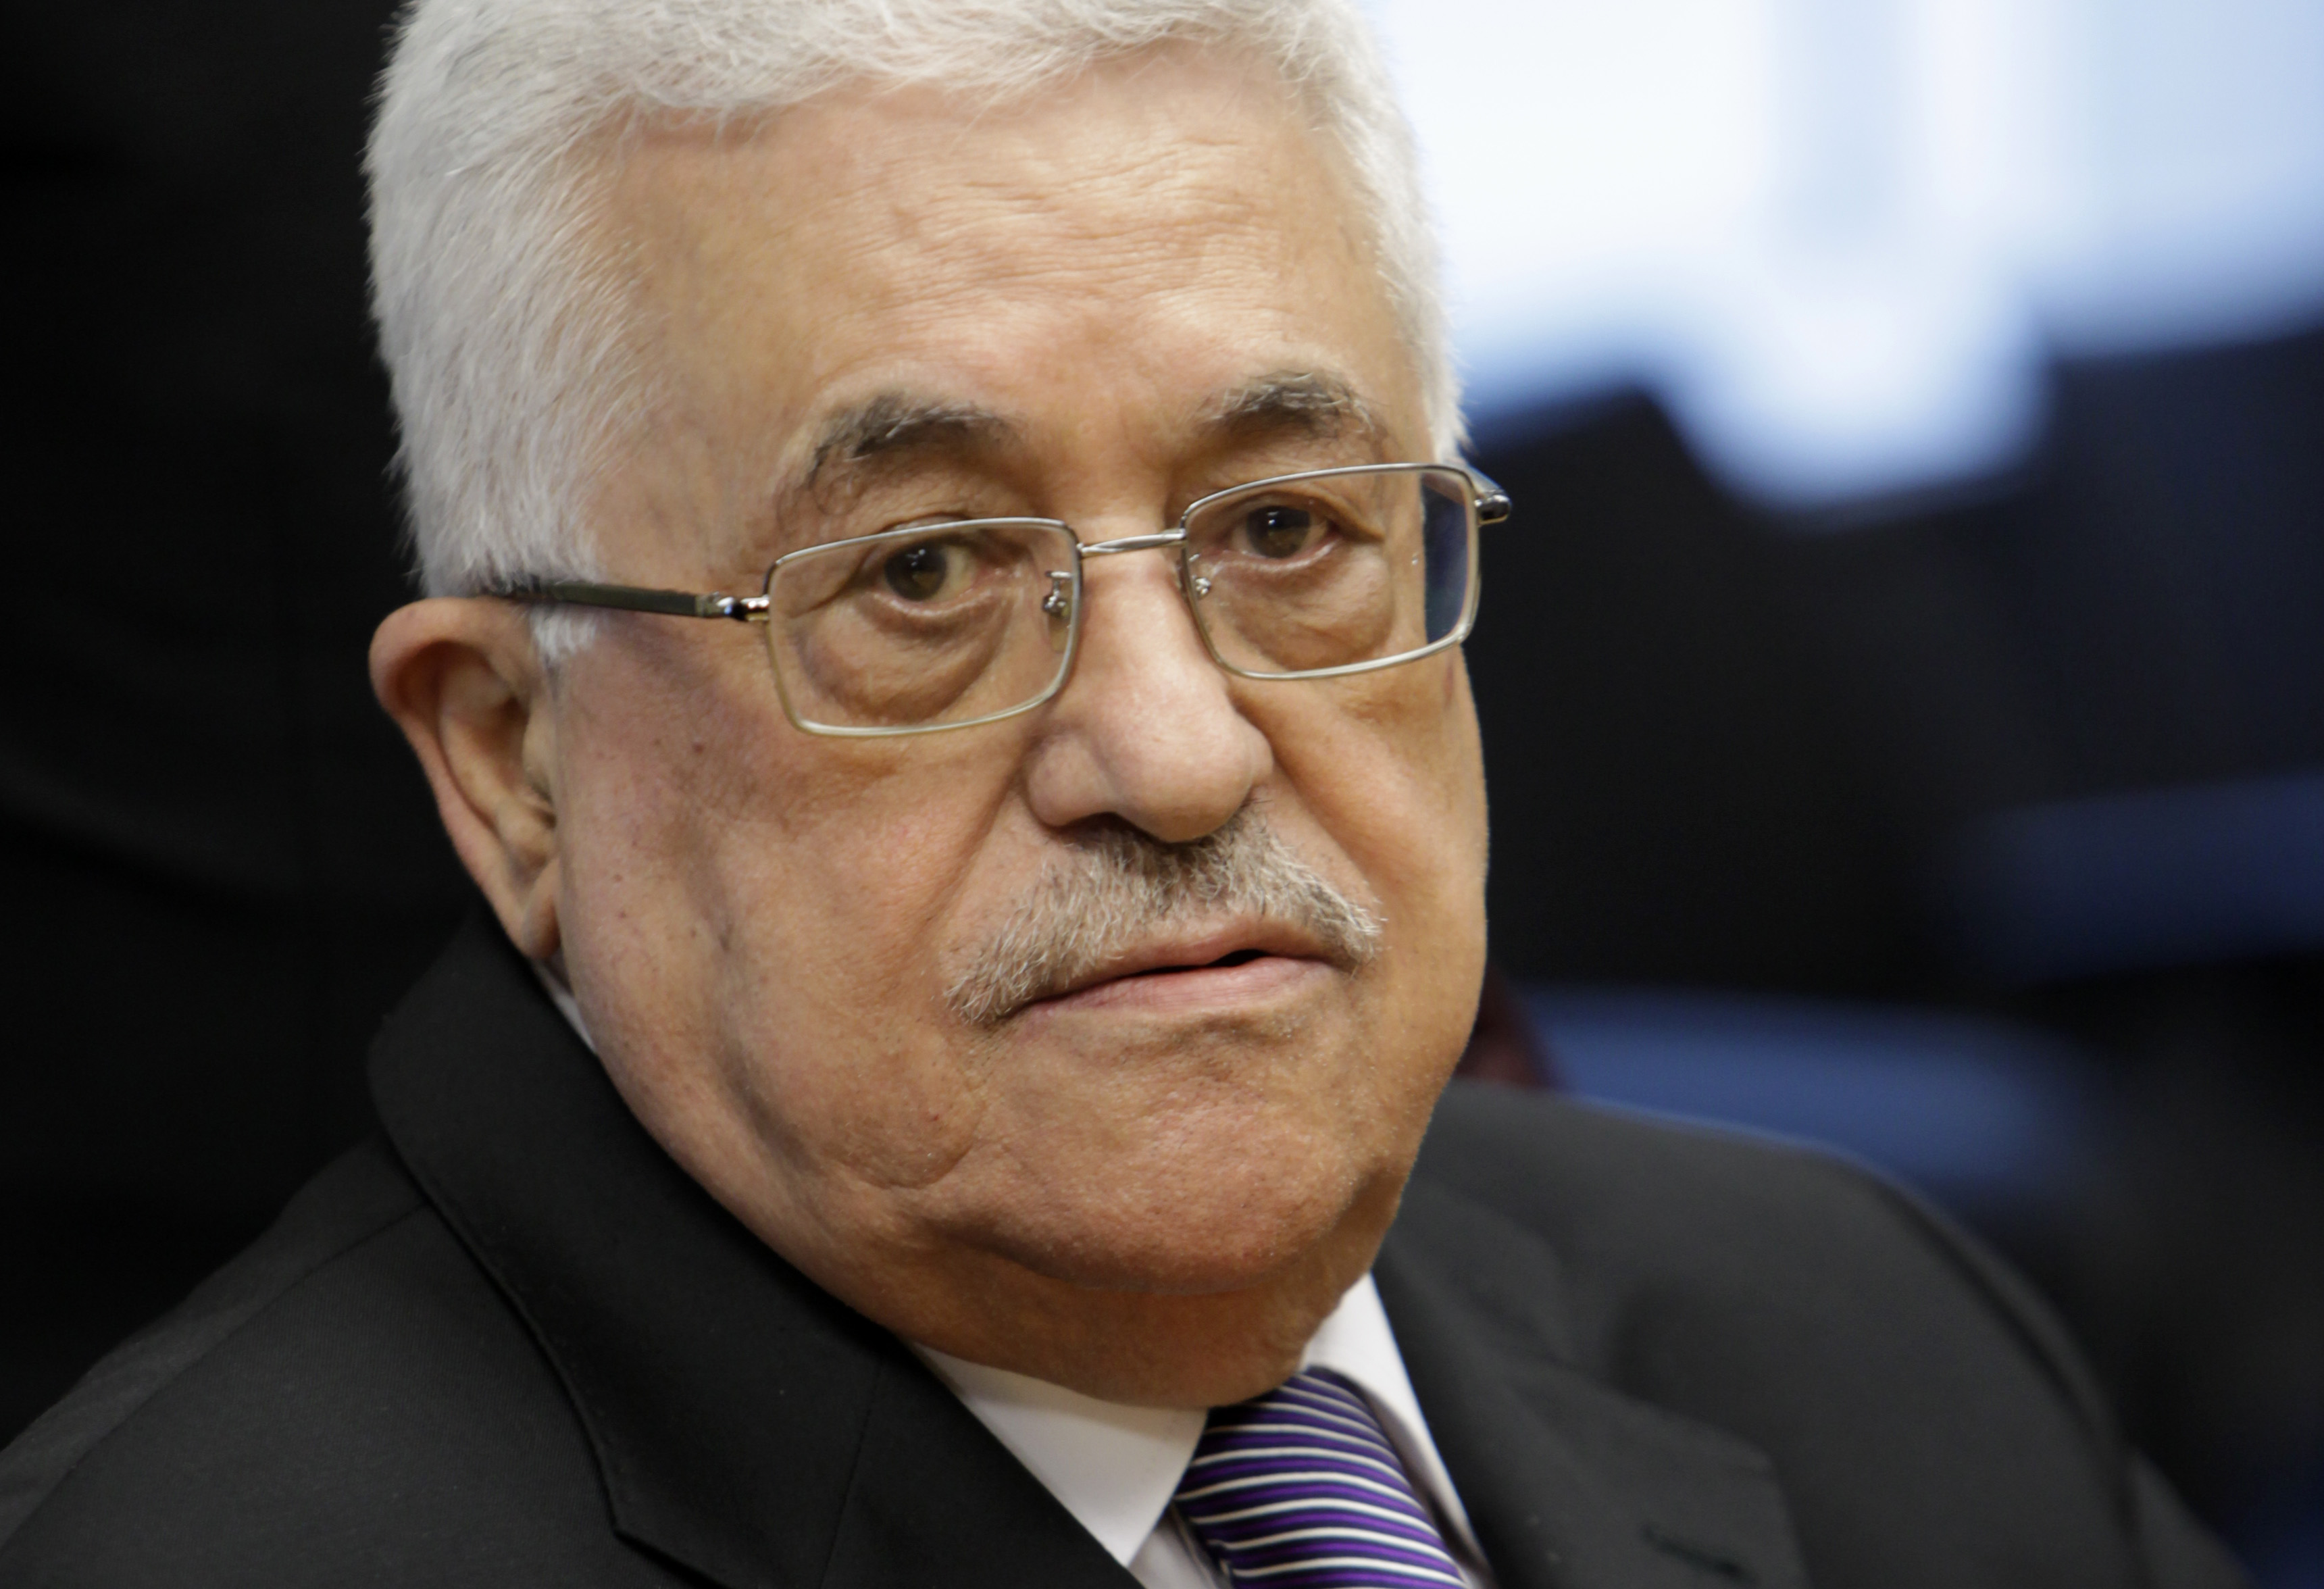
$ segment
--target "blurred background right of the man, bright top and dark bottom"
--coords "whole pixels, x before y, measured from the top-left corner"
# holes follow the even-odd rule
[[[2324,7],[1373,14],[1536,1069],[1922,1187],[2324,1584]]]

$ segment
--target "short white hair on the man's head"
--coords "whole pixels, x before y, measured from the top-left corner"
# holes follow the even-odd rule
[[[609,130],[760,116],[853,79],[1009,98],[1171,39],[1267,60],[1346,151],[1450,458],[1459,390],[1434,235],[1355,0],[411,0],[365,167],[425,588],[602,576],[581,509],[651,397],[590,235]]]

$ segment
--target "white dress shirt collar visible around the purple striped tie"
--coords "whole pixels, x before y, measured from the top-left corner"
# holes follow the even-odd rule
[[[548,966],[535,962],[535,971],[558,1013],[595,1052],[597,1045],[581,1022],[572,990]],[[1208,1417],[1202,1408],[1125,1408],[1048,1380],[969,1364],[918,1343],[906,1345],[1146,1589],[1225,1587],[1211,1552],[1178,1524],[1169,1505],[1178,1494],[1178,1475],[1185,1473],[1202,1438]],[[1364,1401],[1404,1459],[1413,1489],[1436,1512],[1436,1529],[1446,1536],[1446,1550],[1452,1552],[1469,1589],[1494,1589],[1485,1554],[1469,1529],[1469,1512],[1452,1489],[1443,1457],[1436,1454],[1413,1382],[1404,1375],[1404,1354],[1397,1350],[1371,1275],[1339,1299],[1339,1308],[1308,1340],[1299,1366],[1334,1368],[1364,1392]]]

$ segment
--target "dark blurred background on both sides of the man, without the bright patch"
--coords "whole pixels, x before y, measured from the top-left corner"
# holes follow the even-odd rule
[[[0,1440],[365,1129],[467,908],[358,158],[386,5],[16,7]],[[2324,1582],[2324,332],[2052,360],[2006,474],[1817,509],[1643,390],[1499,414],[1497,957],[1557,1080],[1857,1152]]]

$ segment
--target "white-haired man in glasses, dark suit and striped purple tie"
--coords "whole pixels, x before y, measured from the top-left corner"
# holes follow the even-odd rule
[[[1346,0],[418,0],[370,170],[495,925],[0,1582],[2231,1582],[1908,1199],[1439,1101],[1508,504]]]

